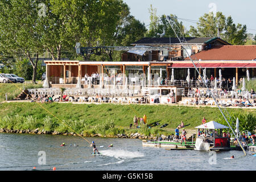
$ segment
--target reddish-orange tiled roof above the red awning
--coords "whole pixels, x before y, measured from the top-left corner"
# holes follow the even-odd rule
[[[255,60],[256,46],[214,46],[191,56],[201,60]],[[185,60],[189,60],[187,57]]]

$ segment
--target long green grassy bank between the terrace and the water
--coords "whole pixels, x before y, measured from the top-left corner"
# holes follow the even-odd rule
[[[113,105],[113,104],[67,104],[53,103],[42,104],[44,110],[37,103],[3,103],[0,110],[0,128],[30,129],[39,128],[47,131],[59,131],[61,133],[72,132],[70,126],[77,133],[87,134],[130,134],[142,133],[145,135],[172,134],[174,129],[184,122],[186,129],[195,129],[201,124],[203,117],[207,121],[218,121],[222,116],[216,107],[186,107],[168,105]],[[51,114],[61,119],[58,121]],[[228,109],[230,114],[250,113],[256,118],[253,109]],[[143,117],[146,114],[147,123],[158,122],[160,125],[147,129],[129,129],[133,123],[134,115]],[[236,122],[236,121],[234,121]],[[165,123],[168,126],[160,129]]]

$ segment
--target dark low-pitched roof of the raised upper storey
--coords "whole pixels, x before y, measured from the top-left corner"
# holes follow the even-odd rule
[[[171,41],[170,41],[171,39]],[[185,38],[188,44],[205,44],[206,42],[212,43],[216,40],[222,40],[220,38]],[[131,45],[145,45],[145,44],[180,44],[178,38],[142,38],[138,40],[137,42],[132,43]],[[222,43],[229,44],[222,40]]]

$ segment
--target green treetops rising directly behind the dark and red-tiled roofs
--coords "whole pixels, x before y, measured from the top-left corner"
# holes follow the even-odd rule
[[[190,27],[189,35],[195,37],[217,37],[226,40],[230,44],[243,45],[246,41],[246,25],[234,24],[231,16],[226,18],[221,12],[216,16],[212,12],[199,18],[197,27]]]

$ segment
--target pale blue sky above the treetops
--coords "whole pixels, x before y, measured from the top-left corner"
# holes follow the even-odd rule
[[[209,11],[221,11],[226,17],[232,16],[234,23],[246,24],[247,33],[256,34],[256,1],[255,0],[123,0],[130,7],[131,15],[150,24],[150,5],[157,9],[156,14],[175,14],[178,18],[199,20]],[[196,27],[196,23],[182,20],[185,28]],[[148,27],[147,27],[148,28]]]

